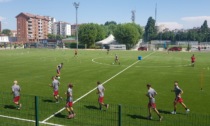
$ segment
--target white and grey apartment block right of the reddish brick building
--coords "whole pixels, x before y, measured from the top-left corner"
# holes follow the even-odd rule
[[[71,36],[71,25],[67,22],[54,22],[52,29],[55,35]]]

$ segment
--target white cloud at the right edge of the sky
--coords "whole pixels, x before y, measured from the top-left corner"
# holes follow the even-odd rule
[[[196,17],[183,17],[181,18],[186,28],[200,27],[205,20],[210,23],[210,16],[196,16]]]

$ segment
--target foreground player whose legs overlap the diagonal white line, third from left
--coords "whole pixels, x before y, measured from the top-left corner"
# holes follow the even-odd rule
[[[66,92],[66,96],[67,96],[67,99],[66,99],[66,110],[68,111],[69,115],[68,115],[68,118],[71,119],[71,118],[74,118],[75,117],[75,113],[74,113],[74,110],[73,110],[73,85],[71,83],[68,84],[68,90]]]

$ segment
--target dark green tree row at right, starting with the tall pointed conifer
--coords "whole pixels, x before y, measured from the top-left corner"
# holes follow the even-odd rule
[[[173,30],[164,29],[158,31],[158,27],[155,26],[155,20],[150,17],[145,26],[144,41],[149,42],[151,40],[171,40],[175,41],[198,41],[198,42],[210,42],[210,28],[205,20],[201,27],[192,28],[188,30]]]

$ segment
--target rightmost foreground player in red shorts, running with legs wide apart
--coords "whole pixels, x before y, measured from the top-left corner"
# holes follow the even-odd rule
[[[177,103],[180,103],[185,108],[186,113],[189,113],[190,109],[188,109],[187,106],[183,103],[183,99],[181,98],[183,91],[181,88],[179,88],[177,81],[174,82],[174,89],[171,91],[175,92],[174,111],[171,112],[171,114],[176,114]]]

